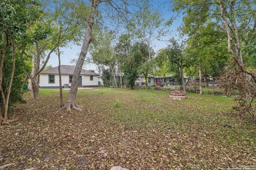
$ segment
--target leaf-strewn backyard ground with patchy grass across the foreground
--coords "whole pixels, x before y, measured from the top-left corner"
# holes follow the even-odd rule
[[[68,90],[64,90],[65,98]],[[58,89],[10,113],[0,126],[6,169],[221,169],[256,165],[256,125],[230,113],[233,98],[165,91],[78,90],[83,111],[60,111]],[[254,167],[255,168],[255,167]]]

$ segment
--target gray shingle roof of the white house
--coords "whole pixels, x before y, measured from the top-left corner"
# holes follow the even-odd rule
[[[74,65],[61,65],[60,66],[60,73],[61,74],[72,75],[74,73],[75,67],[76,66],[74,66]],[[57,67],[53,67],[52,69],[49,69],[49,70],[43,70],[41,72],[41,74],[59,74],[58,66]],[[94,73],[94,72],[89,71],[89,70],[82,69],[80,75],[99,75],[99,74],[98,73]]]

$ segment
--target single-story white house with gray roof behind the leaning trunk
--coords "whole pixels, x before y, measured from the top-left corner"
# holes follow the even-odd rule
[[[74,65],[61,65],[61,83],[63,87],[71,86]],[[58,66],[52,69],[42,71],[38,77],[38,84],[40,88],[59,88],[59,71]],[[68,85],[67,85],[68,84]],[[78,86],[82,87],[98,87],[99,74],[88,70],[82,70]]]

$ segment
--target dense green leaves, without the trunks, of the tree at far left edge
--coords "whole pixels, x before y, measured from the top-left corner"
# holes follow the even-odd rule
[[[40,3],[38,1],[1,1],[0,3],[0,49],[7,43],[6,57],[3,61],[3,79],[2,88],[5,95],[9,90],[9,84],[12,83],[9,105],[12,107],[17,101],[23,102],[23,84],[26,81],[26,72],[29,70],[29,56],[26,55],[26,47],[33,41],[28,35],[28,28],[33,25],[38,17],[41,15],[41,11],[38,8]],[[15,45],[15,52],[13,46]],[[3,53],[2,53],[3,54]],[[16,54],[14,77],[11,82],[11,72],[13,65],[13,56]],[[2,60],[2,55],[1,55]],[[1,100],[1,107],[4,106],[3,98]],[[6,99],[5,99],[6,100]],[[7,101],[5,101],[7,102]],[[2,107],[3,109],[3,107]]]

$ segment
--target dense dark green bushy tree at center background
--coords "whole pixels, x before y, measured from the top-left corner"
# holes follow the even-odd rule
[[[145,43],[135,43],[130,50],[129,55],[125,60],[123,68],[125,79],[130,88],[135,86],[135,80],[140,74],[140,66],[147,60],[148,47]]]

